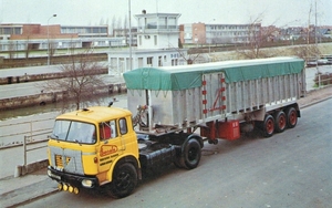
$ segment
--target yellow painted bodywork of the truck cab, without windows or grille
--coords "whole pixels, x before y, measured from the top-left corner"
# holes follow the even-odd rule
[[[100,123],[118,118],[126,118],[127,133],[121,135],[120,129],[116,129],[117,137],[107,141],[101,141],[97,136],[95,144],[77,144],[64,141],[50,139],[49,146],[61,147],[82,152],[83,169],[85,175],[95,175],[101,184],[112,180],[113,168],[116,163],[126,156],[133,156],[138,162],[137,137],[133,129],[132,113],[127,110],[117,107],[89,107],[89,111],[74,111],[56,117],[56,119],[69,119],[90,123],[98,126]],[[118,127],[118,125],[117,125]],[[97,135],[100,129],[96,127]],[[50,150],[48,149],[49,162]],[[97,158],[97,163],[95,163]],[[50,164],[54,166],[54,164]]]

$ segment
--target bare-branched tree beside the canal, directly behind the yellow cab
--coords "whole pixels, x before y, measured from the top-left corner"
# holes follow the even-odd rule
[[[91,59],[91,51],[77,55],[71,55],[71,63],[61,66],[64,79],[50,80],[43,89],[51,92],[62,92],[73,100],[76,110],[84,102],[93,100],[98,93],[98,89],[104,86],[104,81],[96,75],[102,66]]]

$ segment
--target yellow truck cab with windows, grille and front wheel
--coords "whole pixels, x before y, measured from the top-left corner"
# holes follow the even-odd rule
[[[141,177],[132,113],[122,108],[96,106],[58,116],[48,156],[48,175],[75,194],[82,186],[110,184],[110,195],[124,197]]]

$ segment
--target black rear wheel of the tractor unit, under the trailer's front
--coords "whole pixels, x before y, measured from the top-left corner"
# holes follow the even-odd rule
[[[194,169],[198,166],[201,157],[200,144],[197,139],[190,138],[184,144],[180,164],[186,169]]]

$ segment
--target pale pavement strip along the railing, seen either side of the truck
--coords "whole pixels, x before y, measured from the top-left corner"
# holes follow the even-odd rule
[[[332,86],[312,91],[299,100],[301,108],[332,98]],[[0,207],[17,207],[30,200],[58,191],[56,183],[46,176],[46,169],[22,177],[0,179]]]

